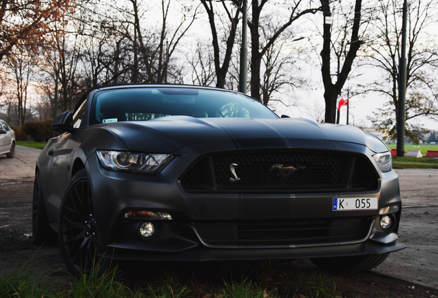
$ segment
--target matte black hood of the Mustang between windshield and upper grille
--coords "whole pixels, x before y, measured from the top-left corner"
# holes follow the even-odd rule
[[[129,150],[174,152],[194,143],[232,142],[233,148],[326,148],[357,143],[375,152],[388,149],[377,137],[353,126],[317,124],[306,119],[193,118],[171,116],[149,121],[103,124]]]

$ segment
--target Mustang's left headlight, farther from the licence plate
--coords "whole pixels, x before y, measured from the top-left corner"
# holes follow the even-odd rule
[[[127,151],[97,150],[97,157],[103,168],[124,172],[152,174],[163,168],[174,158],[173,155],[133,153]]]

